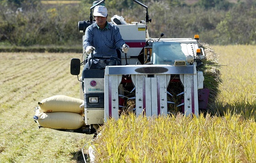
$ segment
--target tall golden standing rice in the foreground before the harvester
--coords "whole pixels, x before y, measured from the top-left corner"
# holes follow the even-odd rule
[[[256,123],[227,112],[223,117],[109,119],[93,141],[94,163],[256,162]]]

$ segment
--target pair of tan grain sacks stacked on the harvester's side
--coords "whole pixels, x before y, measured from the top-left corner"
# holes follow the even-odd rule
[[[85,124],[84,108],[80,105],[84,100],[56,95],[38,102],[34,119],[40,127],[53,129],[78,129]]]

